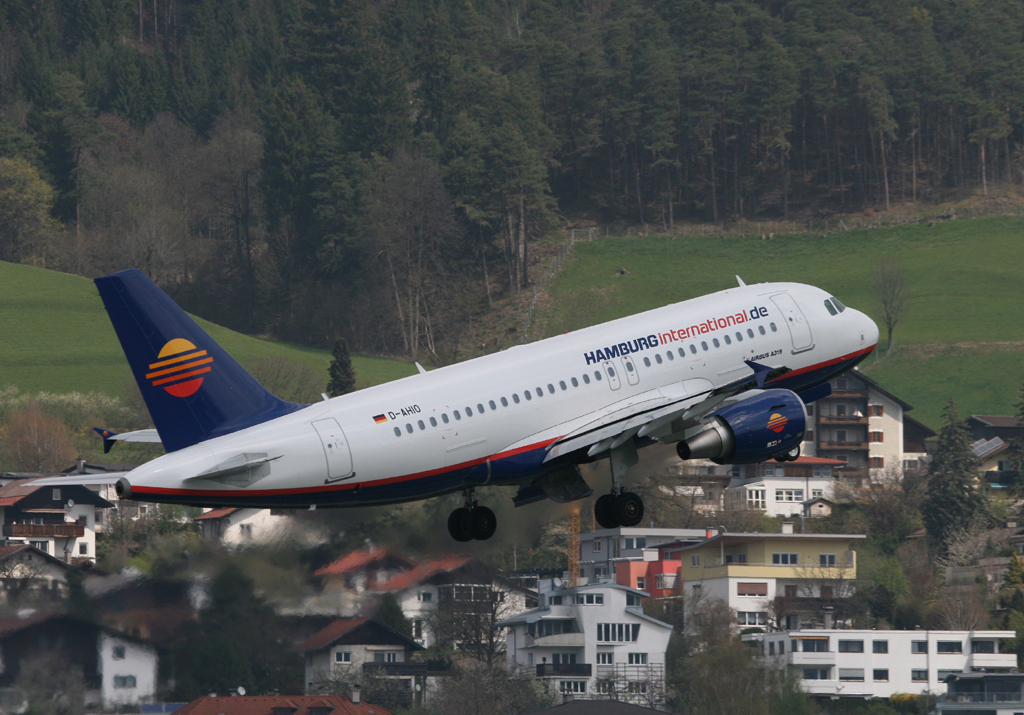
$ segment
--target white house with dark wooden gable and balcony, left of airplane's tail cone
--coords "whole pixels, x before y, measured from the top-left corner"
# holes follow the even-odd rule
[[[8,544],[23,543],[63,561],[96,558],[96,510],[114,505],[82,486],[0,488],[0,524]]]

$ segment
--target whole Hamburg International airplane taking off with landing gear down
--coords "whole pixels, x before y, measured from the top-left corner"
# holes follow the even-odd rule
[[[684,460],[720,464],[797,459],[806,405],[878,344],[874,322],[823,290],[736,280],[296,405],[264,389],[141,271],[95,279],[156,426],[124,438],[159,438],[167,452],[117,475],[115,491],[157,503],[307,509],[461,492],[447,528],[466,542],[497,529],[477,488],[518,487],[516,506],[571,502],[593,494],[580,465],[607,459],[611,490],[596,500],[595,518],[606,529],[636,525],[643,501],[624,479],[638,449],[675,444]],[[97,476],[63,481],[85,478]]]

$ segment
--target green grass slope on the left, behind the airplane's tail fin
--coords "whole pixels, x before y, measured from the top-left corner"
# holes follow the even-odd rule
[[[236,333],[197,319],[240,363],[282,358],[321,371],[327,383],[331,355]],[[120,394],[128,363],[92,281],[28,265],[0,262],[0,386],[23,392]],[[356,386],[416,373],[412,364],[352,356]]]

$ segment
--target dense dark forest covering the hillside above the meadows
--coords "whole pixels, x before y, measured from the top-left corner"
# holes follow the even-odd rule
[[[451,360],[566,216],[1024,178],[1019,0],[5,0],[0,259]]]

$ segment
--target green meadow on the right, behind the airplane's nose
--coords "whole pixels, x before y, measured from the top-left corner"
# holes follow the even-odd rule
[[[876,260],[906,268],[911,305],[897,350],[862,369],[937,427],[952,396],[962,414],[1012,414],[1024,381],[1024,219],[978,218],[815,236],[608,238],[577,244],[540,301],[554,335],[736,285],[797,281],[833,292],[881,323]],[[626,268],[628,276],[616,270]],[[883,341],[885,331],[883,329]],[[993,344],[994,343],[994,344]],[[1002,343],[1002,344],[997,344]],[[1010,344],[1007,344],[1010,343]]]

